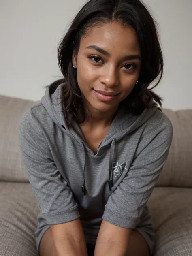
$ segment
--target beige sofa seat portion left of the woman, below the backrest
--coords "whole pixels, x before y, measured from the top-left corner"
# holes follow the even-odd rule
[[[37,256],[39,207],[29,183],[0,182],[0,255]]]

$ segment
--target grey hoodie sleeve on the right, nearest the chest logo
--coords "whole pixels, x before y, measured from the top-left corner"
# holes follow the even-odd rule
[[[156,127],[151,126],[141,137],[128,173],[105,205],[104,220],[132,229],[139,224],[168,157],[172,138],[171,121],[163,113]]]

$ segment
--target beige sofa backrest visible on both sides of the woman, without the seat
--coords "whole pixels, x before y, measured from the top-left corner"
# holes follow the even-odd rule
[[[19,149],[18,128],[22,115],[36,103],[0,96],[0,181],[29,182]],[[192,109],[163,112],[173,124],[173,141],[156,186],[192,187]]]

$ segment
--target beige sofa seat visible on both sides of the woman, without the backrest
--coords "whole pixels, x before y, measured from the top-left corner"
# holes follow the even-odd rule
[[[192,189],[154,188],[148,201],[156,231],[154,256],[191,256]],[[0,255],[37,256],[39,207],[30,184],[0,182]]]

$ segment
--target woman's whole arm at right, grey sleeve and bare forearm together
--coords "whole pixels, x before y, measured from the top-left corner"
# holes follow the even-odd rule
[[[94,256],[124,256],[130,239],[129,230],[141,222],[141,215],[166,162],[173,137],[172,124],[166,116],[155,124],[156,127],[150,126],[141,134],[128,172],[105,205],[102,216],[105,222],[102,222],[99,231]]]

